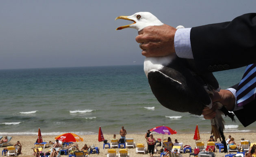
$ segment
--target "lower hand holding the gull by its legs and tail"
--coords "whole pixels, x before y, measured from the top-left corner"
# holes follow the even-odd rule
[[[204,115],[204,119],[213,119],[215,117],[215,110],[217,110],[217,105],[214,105],[214,102],[220,102],[229,111],[232,111],[234,109],[234,104],[236,100],[234,98],[234,95],[229,90],[221,89],[219,92],[213,91],[213,95],[210,95],[210,98],[213,102],[213,107],[204,108],[202,112],[202,115]]]

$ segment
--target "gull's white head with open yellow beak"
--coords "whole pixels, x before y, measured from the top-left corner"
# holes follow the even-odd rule
[[[130,25],[124,25],[116,30],[122,30],[124,28],[135,28],[136,30],[140,31],[143,30],[143,28],[153,25],[163,25],[163,23],[156,18],[152,13],[149,12],[138,12],[131,16],[119,16],[116,19],[125,19],[133,21],[134,23]]]

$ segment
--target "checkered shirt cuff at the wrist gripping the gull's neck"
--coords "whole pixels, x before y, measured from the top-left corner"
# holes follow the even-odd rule
[[[190,43],[190,30],[191,28],[180,28],[175,33],[174,47],[176,54],[180,58],[194,58]]]

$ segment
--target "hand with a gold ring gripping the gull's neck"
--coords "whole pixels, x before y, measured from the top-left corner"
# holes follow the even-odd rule
[[[175,53],[174,35],[176,28],[169,25],[148,26],[138,32],[135,40],[141,44],[142,55],[161,57]]]

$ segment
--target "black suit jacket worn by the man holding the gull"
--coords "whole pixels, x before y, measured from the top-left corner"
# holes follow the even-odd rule
[[[256,13],[241,15],[230,22],[194,27],[190,39],[194,61],[200,72],[256,63]],[[256,101],[253,101],[234,114],[246,127],[256,121],[255,111]]]

